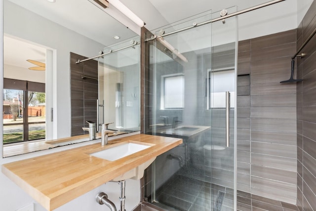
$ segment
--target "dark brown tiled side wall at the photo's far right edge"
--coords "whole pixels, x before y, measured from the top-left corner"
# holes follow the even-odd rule
[[[314,1],[297,30],[297,49],[316,27]],[[298,57],[297,78],[297,205],[300,211],[316,210],[316,36]]]

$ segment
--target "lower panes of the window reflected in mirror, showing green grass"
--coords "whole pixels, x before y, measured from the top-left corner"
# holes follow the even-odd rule
[[[45,130],[31,130],[29,131],[29,140],[35,140],[45,138]],[[18,141],[23,141],[23,132],[13,132],[3,134],[3,143],[14,143]]]

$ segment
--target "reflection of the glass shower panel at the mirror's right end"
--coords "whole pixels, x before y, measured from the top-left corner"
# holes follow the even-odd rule
[[[140,130],[140,40],[105,48],[99,58],[99,119],[120,132]],[[124,48],[124,49],[121,49]],[[99,128],[100,129],[100,128]]]

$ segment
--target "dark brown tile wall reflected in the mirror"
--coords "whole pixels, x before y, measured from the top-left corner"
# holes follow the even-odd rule
[[[78,59],[86,59],[76,53],[70,53],[71,69],[71,135],[87,134],[82,127],[88,127],[85,121],[97,122],[96,100],[98,99],[98,80],[82,79],[81,76],[98,78],[98,62],[95,60],[76,64]]]

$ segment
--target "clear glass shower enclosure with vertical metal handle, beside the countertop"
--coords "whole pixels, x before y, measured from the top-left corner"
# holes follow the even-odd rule
[[[165,210],[236,209],[237,17],[179,30],[217,17],[204,12],[146,35],[158,37],[146,42],[145,133],[183,139],[146,178],[145,197]]]

